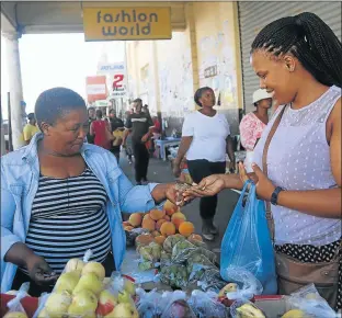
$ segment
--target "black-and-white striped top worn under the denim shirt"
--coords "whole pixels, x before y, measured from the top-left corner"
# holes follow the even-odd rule
[[[57,274],[88,249],[92,261],[103,262],[111,250],[106,201],[105,189],[88,167],[81,175],[67,179],[41,175],[26,246]]]

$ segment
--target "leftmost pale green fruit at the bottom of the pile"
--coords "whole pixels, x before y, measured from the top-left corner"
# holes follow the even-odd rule
[[[71,295],[67,292],[52,293],[45,303],[49,318],[62,318],[71,304]]]

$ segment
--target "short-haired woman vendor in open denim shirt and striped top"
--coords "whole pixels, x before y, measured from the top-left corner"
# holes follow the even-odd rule
[[[1,158],[1,292],[31,282],[29,294],[39,296],[88,249],[106,275],[119,270],[121,213],[175,202],[176,191],[172,183],[133,186],[110,151],[84,144],[87,107],[75,91],[44,91],[35,114],[42,133]]]

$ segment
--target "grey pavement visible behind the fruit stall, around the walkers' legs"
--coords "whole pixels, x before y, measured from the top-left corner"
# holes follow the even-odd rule
[[[125,174],[129,178],[129,180],[135,183],[134,180],[134,164],[129,164],[127,158],[124,152],[121,154],[119,164]],[[149,169],[148,169],[148,180],[149,182],[158,182],[166,183],[174,181],[171,171],[171,164],[169,161],[162,161],[159,159],[150,159]],[[230,191],[224,190],[218,195],[218,206],[215,216],[215,224],[219,228],[219,235],[212,242],[206,241],[210,250],[218,253],[221,239],[225,235],[225,230],[227,228],[230,216],[233,212],[233,208],[238,202],[239,194]],[[202,222],[200,217],[200,200],[194,200],[192,203],[182,208],[182,212],[186,215],[187,220],[192,222],[195,226],[195,230],[197,234],[201,234],[202,230]]]

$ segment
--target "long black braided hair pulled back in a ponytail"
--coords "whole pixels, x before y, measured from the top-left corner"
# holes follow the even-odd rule
[[[342,83],[342,44],[316,14],[303,12],[267,24],[252,43],[251,53],[265,49],[274,56],[290,53],[320,83]]]

